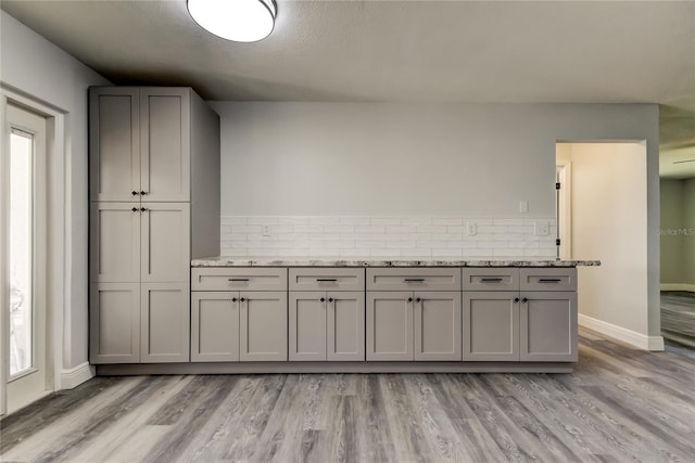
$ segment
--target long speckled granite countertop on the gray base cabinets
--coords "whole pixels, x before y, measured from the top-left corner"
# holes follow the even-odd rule
[[[344,258],[344,257],[208,257],[191,260],[191,267],[598,267],[601,260],[554,259],[422,259],[422,258]]]

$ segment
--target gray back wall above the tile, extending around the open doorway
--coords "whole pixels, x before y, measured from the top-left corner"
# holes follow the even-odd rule
[[[555,216],[557,141],[646,140],[647,313],[659,335],[655,104],[214,102],[222,215]],[[601,259],[601,255],[573,256]],[[608,320],[606,320],[608,321]],[[647,326],[645,329],[645,326]],[[645,330],[648,333],[645,333]]]

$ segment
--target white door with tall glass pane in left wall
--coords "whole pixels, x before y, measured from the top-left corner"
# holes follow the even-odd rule
[[[46,119],[8,104],[2,159],[3,369],[7,413],[49,393]]]

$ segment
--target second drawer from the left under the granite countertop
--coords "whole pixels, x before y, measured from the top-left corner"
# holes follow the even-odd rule
[[[290,269],[290,291],[364,291],[365,269]]]

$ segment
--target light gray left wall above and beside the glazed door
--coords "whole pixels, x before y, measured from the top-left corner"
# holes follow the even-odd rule
[[[87,361],[87,87],[110,82],[5,12],[0,15],[2,85],[66,114],[70,217],[63,366],[68,369]]]

